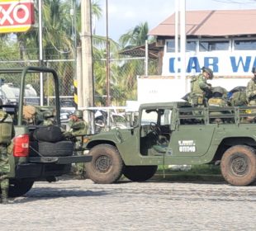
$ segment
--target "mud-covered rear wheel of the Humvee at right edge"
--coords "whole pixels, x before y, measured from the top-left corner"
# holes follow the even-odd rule
[[[233,186],[247,186],[256,178],[255,149],[246,145],[235,145],[225,151],[220,162],[225,181]]]

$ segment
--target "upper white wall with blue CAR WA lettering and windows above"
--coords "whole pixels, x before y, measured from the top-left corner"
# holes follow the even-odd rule
[[[163,57],[163,76],[177,76],[180,73],[180,55],[174,53],[173,40],[166,40]],[[187,75],[201,72],[203,66],[213,70],[220,77],[246,77],[256,66],[256,39],[187,39]]]

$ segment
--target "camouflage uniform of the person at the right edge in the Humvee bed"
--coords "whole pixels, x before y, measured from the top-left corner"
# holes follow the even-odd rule
[[[256,68],[252,69],[254,73],[254,78],[252,78],[246,87],[246,97],[248,101],[248,106],[256,106]],[[256,113],[256,110],[251,110],[251,113]],[[255,116],[248,117],[249,122],[254,122]]]

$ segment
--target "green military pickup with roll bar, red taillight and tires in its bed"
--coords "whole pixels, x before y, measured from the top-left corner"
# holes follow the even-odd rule
[[[12,75],[17,84],[19,82],[20,87],[17,105],[0,106],[0,109],[12,115],[15,131],[12,144],[8,147],[12,151],[12,155],[9,155],[11,163],[9,196],[25,194],[31,189],[34,181],[55,181],[56,177],[70,172],[72,163],[85,163],[92,160],[91,156],[75,155],[72,140],[58,138],[55,142],[47,142],[49,138],[37,140],[34,137],[36,130],[46,129],[47,135],[50,136],[49,128],[54,130],[53,128],[59,129],[61,126],[59,78],[54,69],[37,67],[0,69],[0,74],[2,78],[9,78]],[[33,81],[42,82],[44,97],[48,97],[49,100],[43,99],[42,102],[47,102],[47,105],[35,106],[37,113],[31,117],[31,120],[26,120],[24,108],[29,106],[28,101],[24,100],[26,84]],[[45,89],[45,86],[50,88]],[[34,106],[31,107],[33,108]],[[55,111],[54,127],[41,125],[40,114],[49,110]],[[28,112],[32,113],[33,110]],[[1,128],[3,128],[2,125]],[[4,130],[0,130],[1,136],[6,135],[3,133]]]

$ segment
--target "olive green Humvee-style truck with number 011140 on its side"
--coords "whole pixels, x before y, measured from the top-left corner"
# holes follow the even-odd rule
[[[94,134],[86,144],[88,177],[113,183],[123,174],[146,181],[158,166],[220,164],[225,181],[246,186],[256,178],[256,108],[192,107],[187,101],[142,104],[127,129]]]

